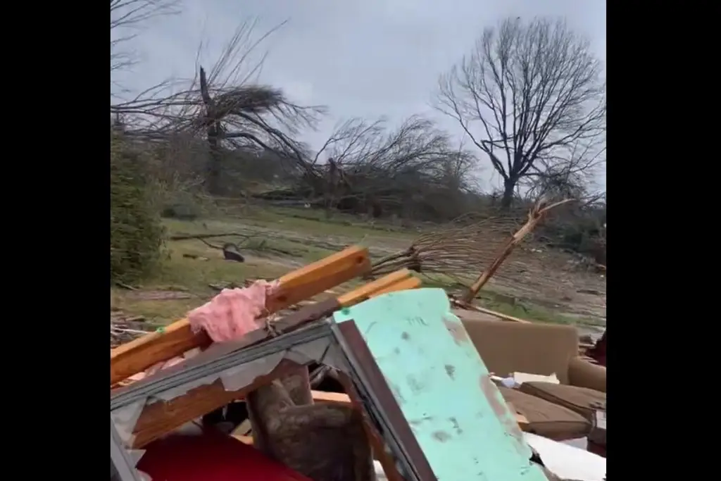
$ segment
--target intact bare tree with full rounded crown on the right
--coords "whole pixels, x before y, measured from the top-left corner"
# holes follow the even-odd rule
[[[503,178],[501,206],[563,149],[605,129],[601,61],[565,22],[506,19],[441,77],[438,109],[459,121]],[[505,157],[505,159],[503,159]]]

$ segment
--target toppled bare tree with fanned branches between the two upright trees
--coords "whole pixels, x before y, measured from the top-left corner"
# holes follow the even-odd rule
[[[326,208],[379,215],[399,212],[424,198],[442,208],[448,192],[468,187],[474,159],[454,148],[432,121],[412,116],[397,128],[389,128],[384,118],[346,120],[311,164],[324,172],[322,179],[304,177],[311,198],[320,196]]]

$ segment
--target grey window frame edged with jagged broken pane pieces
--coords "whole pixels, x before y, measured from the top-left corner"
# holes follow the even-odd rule
[[[326,343],[324,347],[323,343]],[[318,351],[314,352],[316,356],[311,356],[311,348]],[[222,382],[224,375],[244,376],[247,379],[241,384],[234,384],[233,389],[225,386],[226,391],[250,391],[259,378],[269,382],[283,376],[283,368],[279,366],[286,359],[300,366],[317,362],[337,369],[345,379],[348,395],[356,405],[363,407],[371,430],[375,431],[373,435],[381,438],[386,451],[392,455],[400,477],[407,481],[436,481],[428,460],[412,435],[410,425],[400,414],[399,405],[390,394],[377,363],[352,319],[340,324],[331,320],[316,322],[278,337],[268,337],[257,345],[249,346],[247,340],[215,344],[197,358],[188,359],[180,365],[111,392],[111,462],[115,464],[120,480],[143,480],[135,468],[140,459],[137,454],[140,453],[133,452],[143,446],[133,448],[132,443],[136,423],[146,407],[152,405],[148,403],[149,400],[155,398],[155,402],[168,402],[193,389],[213,384],[218,379]],[[132,411],[133,407],[137,411],[135,419],[132,419],[133,416],[128,418],[132,425],[123,426],[120,423],[119,426],[119,414],[124,409]],[[125,433],[125,438],[120,431]]]

